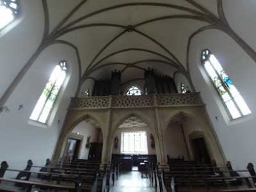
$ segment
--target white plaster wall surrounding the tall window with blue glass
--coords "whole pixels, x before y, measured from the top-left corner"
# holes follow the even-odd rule
[[[209,49],[220,61],[252,111],[251,115],[230,120],[214,86],[202,68],[200,55],[203,49]],[[196,92],[201,92],[227,160],[231,161],[233,168],[246,168],[249,162],[255,164],[255,62],[228,35],[218,30],[207,30],[196,35],[191,41],[189,68]]]

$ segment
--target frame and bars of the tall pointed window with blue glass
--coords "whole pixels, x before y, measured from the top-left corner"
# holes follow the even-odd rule
[[[208,52],[208,53],[207,53],[207,52]],[[206,54],[205,54],[205,53],[206,53]],[[212,62],[210,61],[211,55],[214,56],[214,54],[212,54],[212,52],[209,51],[209,49],[204,49],[204,50],[202,51],[202,53],[201,53],[201,64],[202,64],[202,66],[203,66],[203,68],[204,68],[204,70],[205,70],[205,72],[206,72],[206,74],[207,74],[207,77],[209,77],[209,79],[210,79],[212,85],[214,86],[214,89],[215,89],[216,92],[218,93],[218,96],[220,97],[221,102],[222,102],[223,105],[225,106],[225,109],[226,109],[226,111],[227,111],[227,113],[228,113],[228,116],[230,117],[230,119],[235,120],[235,119],[237,119],[237,118],[241,118],[241,117],[243,117],[243,116],[250,115],[250,114],[252,113],[252,111],[250,111],[250,109],[248,108],[248,106],[247,106],[247,104],[245,103],[245,101],[244,101],[244,104],[246,104],[246,106],[247,106],[247,108],[249,109],[250,113],[248,113],[248,114],[246,114],[246,115],[243,115],[243,111],[241,111],[241,108],[239,107],[239,104],[237,104],[237,101],[236,101],[235,97],[234,97],[234,96],[232,95],[232,93],[230,92],[230,90],[229,90],[229,88],[228,88],[228,86],[227,86],[227,83],[223,80],[223,78],[220,76],[218,70],[216,70],[216,68],[214,67],[214,65],[213,65]],[[216,57],[214,56],[214,58],[216,58]],[[216,58],[216,60],[217,60],[217,58]],[[227,100],[227,102],[225,102],[225,100],[224,100],[223,97],[221,96],[221,93],[218,91],[218,88],[220,88],[221,86],[217,87],[217,85],[214,83],[213,79],[211,78],[211,74],[209,74],[209,72],[207,71],[207,69],[206,69],[206,67],[205,67],[205,63],[206,63],[207,61],[210,63],[210,65],[211,65],[211,67],[213,68],[213,70],[214,70],[216,76],[218,77],[218,79],[220,79],[221,86],[222,86],[222,87],[224,88],[224,90],[228,93],[228,96],[230,97],[230,100],[232,100],[232,102],[233,102],[234,105],[236,106],[236,109],[237,109],[237,111],[238,111],[238,113],[239,113],[240,116],[238,116],[238,117],[233,117],[233,116],[232,116],[232,114],[231,114],[231,112],[230,112],[232,109],[229,109],[228,106],[227,106],[227,104],[226,104],[226,103],[227,103],[228,101],[230,101],[230,100]],[[218,61],[218,60],[217,60],[217,61]],[[220,63],[219,61],[218,61],[218,63],[219,63],[220,66],[221,66],[221,63]],[[223,68],[223,67],[221,66],[221,68]],[[224,68],[223,68],[223,71],[225,72]],[[227,75],[227,73],[225,73],[225,74]],[[228,75],[227,75],[227,77],[228,77]],[[229,77],[228,77],[228,79],[230,80]],[[232,82],[232,81],[230,80],[230,82]],[[233,84],[233,85],[234,85],[234,84]],[[234,86],[234,88],[236,88],[236,86]],[[239,93],[238,90],[237,90],[237,93]],[[241,96],[240,93],[239,93],[238,95]],[[238,95],[237,95],[237,96],[238,96]],[[236,96],[236,97],[237,97],[237,96]],[[241,96],[241,98],[243,99],[242,96]]]

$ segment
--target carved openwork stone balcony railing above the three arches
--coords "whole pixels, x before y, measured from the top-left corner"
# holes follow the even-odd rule
[[[72,98],[70,109],[154,108],[204,105],[199,93]]]

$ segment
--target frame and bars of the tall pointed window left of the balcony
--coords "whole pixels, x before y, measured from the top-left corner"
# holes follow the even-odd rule
[[[32,113],[31,113],[31,116],[29,116],[29,120],[32,120],[32,121],[34,121],[34,122],[38,122],[38,123],[40,123],[40,124],[47,124],[47,123],[48,123],[49,118],[50,118],[51,113],[52,113],[52,110],[54,109],[54,106],[55,106],[55,104],[56,104],[56,100],[58,99],[58,96],[60,95],[61,88],[63,87],[63,84],[65,83],[65,81],[66,81],[66,79],[67,79],[67,74],[68,74],[67,61],[65,61],[65,60],[59,61],[58,64],[57,64],[57,65],[54,67],[54,69],[52,70],[52,72],[54,72],[54,70],[55,70],[55,68],[56,68],[57,66],[60,66],[60,67],[61,67],[61,71],[65,71],[65,77],[63,78],[63,81],[62,81],[62,83],[61,83],[61,85],[60,85],[60,88],[58,89],[58,92],[55,94],[55,99],[54,99],[54,101],[53,101],[53,103],[52,103],[51,109],[49,110],[49,113],[48,113],[48,115],[47,115],[47,118],[45,119],[45,122],[41,122],[41,121],[39,121],[39,119],[40,119],[40,116],[42,115],[42,112],[44,111],[44,109],[47,108],[47,107],[45,107],[45,104],[47,103],[47,101],[49,100],[49,98],[50,98],[51,95],[52,95],[52,91],[54,90],[54,85],[55,85],[56,82],[58,81],[58,77],[57,77],[56,80],[54,81],[54,84],[52,84],[52,87],[51,87],[51,90],[49,90],[49,93],[47,93],[47,97],[46,97],[46,99],[45,99],[45,101],[44,101],[44,105],[43,105],[42,108],[40,109],[40,113],[38,114],[36,120],[35,120],[35,119],[32,119],[31,116],[33,115],[34,110],[35,110],[35,108],[36,108],[36,105],[38,104],[38,101],[40,100],[40,97],[42,97],[42,94],[44,93],[44,91],[45,91],[45,89],[46,89],[46,87],[47,87],[47,84],[49,83],[49,81],[50,81],[50,79],[51,79],[52,73],[51,73],[51,76],[49,77],[49,79],[48,79],[48,81],[47,81],[47,83],[46,83],[46,85],[45,85],[45,88],[44,88],[44,90],[42,91],[42,93],[41,93],[41,95],[40,95],[38,101],[36,102],[36,105],[35,105],[35,107],[34,107]]]

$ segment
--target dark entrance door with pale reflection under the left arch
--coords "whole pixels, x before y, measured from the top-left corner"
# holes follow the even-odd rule
[[[65,154],[63,157],[64,163],[69,163],[73,161],[73,159],[77,159],[79,153],[81,140],[75,140],[72,138],[68,138],[67,147],[65,150]]]

